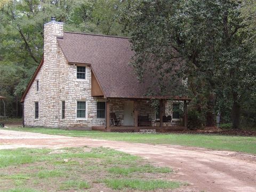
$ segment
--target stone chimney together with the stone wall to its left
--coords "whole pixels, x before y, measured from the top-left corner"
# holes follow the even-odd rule
[[[59,46],[57,36],[63,36],[63,23],[51,21],[44,25],[44,64],[24,101],[26,126],[59,126]],[[36,92],[36,80],[39,90]],[[35,119],[34,103],[38,102],[39,117]]]

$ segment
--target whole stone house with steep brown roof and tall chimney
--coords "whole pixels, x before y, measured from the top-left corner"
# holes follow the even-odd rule
[[[173,98],[159,97],[156,111],[143,96],[149,83],[139,83],[129,66],[132,55],[129,38],[63,32],[63,23],[52,17],[44,25],[43,59],[22,95],[23,125],[111,130],[113,115],[136,129],[140,121],[168,126],[164,114],[180,120],[172,108],[181,103],[186,112],[188,99],[172,104]]]

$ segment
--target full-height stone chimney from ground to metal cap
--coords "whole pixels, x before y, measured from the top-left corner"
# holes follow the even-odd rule
[[[41,68],[42,78],[39,79],[41,85],[41,109],[42,122],[44,125],[58,126],[59,122],[59,66],[61,49],[57,42],[57,37],[63,37],[63,23],[57,22],[55,17],[44,24],[44,64]],[[55,114],[52,116],[51,114]]]

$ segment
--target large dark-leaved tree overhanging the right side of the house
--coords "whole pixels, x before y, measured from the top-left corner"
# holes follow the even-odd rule
[[[245,5],[231,0],[127,1],[121,22],[130,31],[135,71],[143,77],[151,63],[162,69],[181,57],[181,74],[188,78],[198,111],[206,111],[206,125],[214,124],[214,109],[222,107],[224,95],[231,100],[238,129],[242,98],[253,92],[255,78],[253,46],[245,43],[252,36],[241,17]],[[171,71],[165,71],[167,76],[175,74]]]

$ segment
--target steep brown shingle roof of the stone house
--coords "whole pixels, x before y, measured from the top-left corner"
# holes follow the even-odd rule
[[[139,83],[129,66],[129,38],[64,33],[58,42],[68,62],[91,65],[105,97],[142,98],[147,92],[150,83]]]

